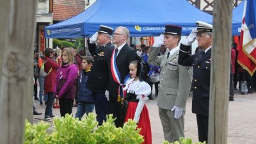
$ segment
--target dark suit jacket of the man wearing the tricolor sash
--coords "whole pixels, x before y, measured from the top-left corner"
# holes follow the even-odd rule
[[[125,77],[129,74],[129,64],[131,61],[137,60],[136,52],[128,44],[122,47],[121,51],[116,57],[116,65],[121,75],[121,81],[124,83]],[[109,72],[109,93],[111,98],[117,99],[118,83],[115,82],[111,71]]]

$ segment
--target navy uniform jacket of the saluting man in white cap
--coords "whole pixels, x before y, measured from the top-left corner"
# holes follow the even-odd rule
[[[203,54],[200,49],[193,55],[189,54],[190,46],[180,44],[178,63],[193,66],[193,100],[192,112],[198,115],[209,115],[209,92],[211,80],[211,49]]]

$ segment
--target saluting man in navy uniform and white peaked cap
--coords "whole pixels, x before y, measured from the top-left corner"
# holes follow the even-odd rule
[[[199,141],[206,141],[208,136],[209,119],[209,89],[211,77],[212,25],[196,22],[193,30],[183,44],[180,45],[179,64],[193,66],[193,99],[192,112],[196,114]],[[198,41],[198,50],[190,55],[191,44]]]

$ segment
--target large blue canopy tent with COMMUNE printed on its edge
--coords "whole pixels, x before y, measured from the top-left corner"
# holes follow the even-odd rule
[[[212,23],[212,15],[202,12],[186,0],[97,0],[90,8],[68,20],[45,28],[45,38],[77,38],[93,35],[100,24],[125,26],[131,36],[156,36],[164,25],[182,26],[188,35],[201,20]]]

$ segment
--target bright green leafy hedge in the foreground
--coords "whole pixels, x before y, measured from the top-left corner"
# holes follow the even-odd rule
[[[89,113],[82,118],[73,118],[70,115],[56,117],[53,120],[53,127],[47,122],[41,121],[31,125],[26,120],[24,132],[24,144],[140,144],[143,143],[143,136],[136,129],[136,122],[128,120],[124,127],[115,127],[113,115],[109,115],[106,122],[97,126],[96,115]],[[51,133],[47,133],[49,127]],[[173,144],[164,141],[164,144]],[[191,138],[180,138],[174,144],[192,144]],[[205,144],[196,142],[195,144]]]

